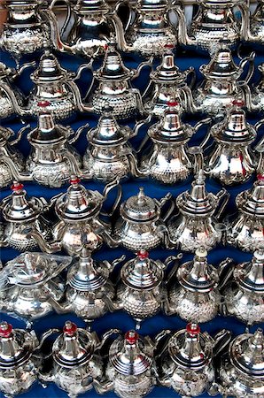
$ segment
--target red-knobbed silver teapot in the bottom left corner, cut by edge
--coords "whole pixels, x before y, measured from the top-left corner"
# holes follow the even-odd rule
[[[43,342],[43,341],[42,341]],[[37,381],[42,342],[35,332],[0,323],[0,392],[5,398],[26,393]]]

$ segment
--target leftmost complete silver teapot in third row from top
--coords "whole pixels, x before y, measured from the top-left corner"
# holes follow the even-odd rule
[[[27,134],[31,153],[27,157],[26,168],[32,180],[58,188],[71,175],[80,174],[81,157],[71,144],[89,125],[81,126],[75,133],[70,126],[55,124],[45,109],[38,116],[37,127]]]

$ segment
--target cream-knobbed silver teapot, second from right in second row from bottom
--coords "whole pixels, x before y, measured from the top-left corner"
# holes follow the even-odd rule
[[[199,324],[214,319],[221,306],[220,288],[229,277],[223,279],[221,275],[231,262],[227,258],[216,269],[208,264],[207,251],[201,247],[196,249],[193,260],[176,264],[167,279],[166,315],[178,315],[188,322],[196,319]]]

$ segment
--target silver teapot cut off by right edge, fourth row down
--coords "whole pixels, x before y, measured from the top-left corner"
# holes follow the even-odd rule
[[[264,178],[236,198],[237,217],[229,222],[227,241],[245,251],[254,251],[264,245]]]

